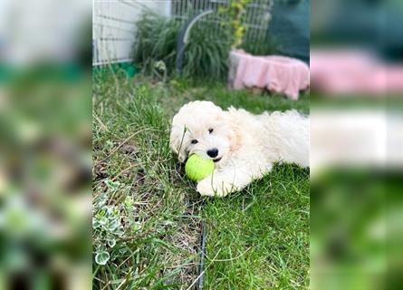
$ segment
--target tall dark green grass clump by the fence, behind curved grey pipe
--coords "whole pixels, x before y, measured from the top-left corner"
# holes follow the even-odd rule
[[[174,19],[146,12],[137,26],[133,51],[135,63],[143,73],[152,73],[155,63],[163,61],[168,74],[174,73],[181,24]],[[184,75],[207,79],[225,77],[229,50],[230,42],[225,29],[219,24],[198,22],[193,26],[185,47]]]

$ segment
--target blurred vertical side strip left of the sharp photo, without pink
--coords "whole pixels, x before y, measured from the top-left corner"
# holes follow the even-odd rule
[[[91,2],[0,1],[0,288],[91,287]]]

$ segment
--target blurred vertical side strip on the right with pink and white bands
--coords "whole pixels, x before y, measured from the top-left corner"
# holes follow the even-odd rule
[[[312,1],[312,289],[403,287],[402,16]]]

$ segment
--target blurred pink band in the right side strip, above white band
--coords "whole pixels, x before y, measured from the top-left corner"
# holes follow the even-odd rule
[[[311,81],[332,94],[403,92],[403,63],[381,63],[362,51],[312,52]]]

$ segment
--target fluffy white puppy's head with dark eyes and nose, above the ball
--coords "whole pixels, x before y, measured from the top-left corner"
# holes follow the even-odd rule
[[[238,145],[239,135],[227,112],[213,102],[189,102],[172,121],[170,148],[180,162],[197,153],[219,166]]]

